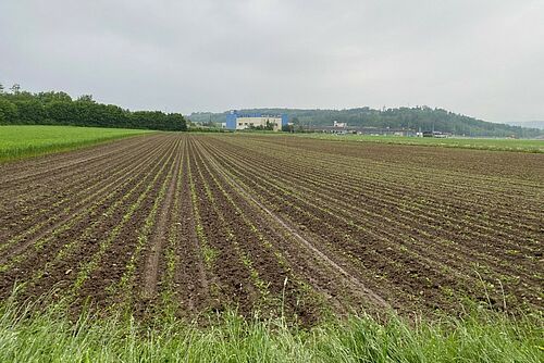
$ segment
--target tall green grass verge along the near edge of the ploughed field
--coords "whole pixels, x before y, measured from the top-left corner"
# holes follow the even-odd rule
[[[18,308],[17,308],[18,306]],[[134,318],[65,309],[0,305],[1,362],[542,362],[536,318],[480,311],[465,318],[418,321],[369,316],[311,329],[282,320],[210,317],[208,327],[172,318],[144,325]]]

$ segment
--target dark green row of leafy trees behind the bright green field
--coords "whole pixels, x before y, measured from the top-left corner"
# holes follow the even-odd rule
[[[77,99],[62,91],[33,93],[13,85],[0,84],[0,125],[71,125],[157,130],[187,129],[180,113],[129,111],[114,104],[96,102],[90,95]]]

